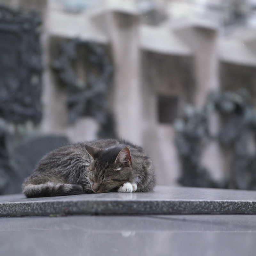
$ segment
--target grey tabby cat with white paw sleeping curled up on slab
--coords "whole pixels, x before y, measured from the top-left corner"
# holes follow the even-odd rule
[[[76,143],[45,155],[24,180],[27,197],[149,192],[154,167],[143,148],[125,140]]]

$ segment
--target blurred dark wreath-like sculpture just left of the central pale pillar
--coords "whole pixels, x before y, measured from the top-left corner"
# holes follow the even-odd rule
[[[85,79],[79,79],[75,69],[83,62]],[[79,39],[62,42],[60,56],[53,61],[60,81],[67,88],[68,116],[71,124],[81,116],[92,116],[100,124],[99,137],[115,137],[114,120],[108,110],[108,91],[112,65],[104,49],[93,42]]]

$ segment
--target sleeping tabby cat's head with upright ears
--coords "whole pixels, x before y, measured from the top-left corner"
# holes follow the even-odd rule
[[[93,158],[88,171],[93,192],[115,191],[131,180],[132,158],[128,147],[100,149],[86,145],[85,148]]]

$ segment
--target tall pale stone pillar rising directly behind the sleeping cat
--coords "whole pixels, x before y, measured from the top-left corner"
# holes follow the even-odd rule
[[[112,107],[117,135],[141,144],[143,120],[138,25],[138,15],[124,12],[108,13],[115,70]]]

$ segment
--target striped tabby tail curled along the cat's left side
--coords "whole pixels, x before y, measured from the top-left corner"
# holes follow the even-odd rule
[[[26,184],[22,187],[22,193],[27,197],[70,196],[84,194],[84,190],[80,185],[47,182],[39,185]]]

